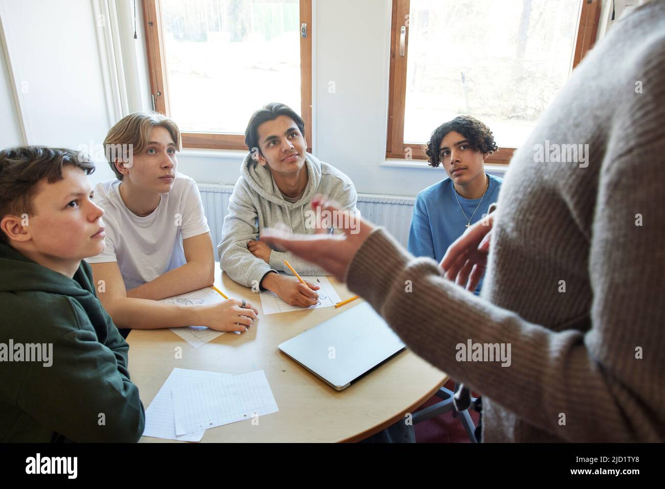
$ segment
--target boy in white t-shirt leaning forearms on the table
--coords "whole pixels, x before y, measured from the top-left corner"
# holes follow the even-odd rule
[[[180,144],[178,126],[161,114],[130,114],[106,135],[104,148],[117,179],[94,189],[106,226],[106,249],[87,260],[98,296],[118,328],[244,331],[258,313],[245,300],[158,302],[214,282],[212,239],[198,187],[176,172]]]

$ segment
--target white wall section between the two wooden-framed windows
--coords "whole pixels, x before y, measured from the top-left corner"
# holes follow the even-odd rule
[[[317,155],[364,193],[416,195],[442,168],[382,165],[386,159],[390,2],[317,3]],[[334,82],[335,92],[328,90]],[[424,164],[424,163],[422,163]]]

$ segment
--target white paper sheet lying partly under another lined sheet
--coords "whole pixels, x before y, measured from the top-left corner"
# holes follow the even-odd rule
[[[201,441],[205,430],[199,430],[186,435],[176,435],[176,418],[173,411],[172,389],[187,385],[205,383],[225,377],[233,377],[229,373],[207,372],[203,370],[173,369],[162,389],[152,399],[146,409],[146,428],[144,437],[164,438],[167,440]]]

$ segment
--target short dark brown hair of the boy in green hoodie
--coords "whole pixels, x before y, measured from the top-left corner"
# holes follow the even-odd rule
[[[33,197],[39,182],[62,180],[65,165],[80,168],[86,175],[94,171],[92,159],[74,149],[17,146],[0,151],[0,219],[6,215],[35,215]],[[7,241],[7,235],[0,230],[0,242]]]

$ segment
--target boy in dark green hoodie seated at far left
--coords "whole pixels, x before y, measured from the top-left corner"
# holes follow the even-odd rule
[[[135,442],[145,413],[128,345],[82,258],[104,250],[88,157],[0,151],[0,440]]]

